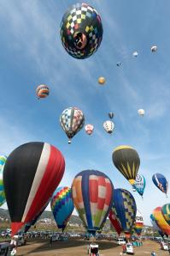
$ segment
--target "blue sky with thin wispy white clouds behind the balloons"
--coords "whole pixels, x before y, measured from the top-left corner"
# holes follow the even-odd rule
[[[82,1],[79,1],[80,3]],[[83,1],[84,2],[84,1]],[[131,186],[112,163],[120,144],[138,150],[140,174],[146,178],[144,201],[135,193],[144,222],[151,211],[169,202],[152,183],[152,174],[170,178],[170,3],[164,0],[89,0],[103,21],[103,41],[85,60],[71,58],[62,47],[60,23],[71,0],[0,1],[0,146],[9,153],[21,143],[54,144],[66,160],[62,186],[71,186],[81,170],[108,174],[114,187]],[[158,46],[153,54],[150,46]],[[132,52],[138,58],[132,58]],[[120,68],[116,66],[121,62]],[[101,87],[98,76],[107,82]],[[50,97],[38,101],[38,84],[50,86]],[[82,130],[71,145],[59,124],[67,107],[79,107],[85,123],[95,126],[88,137]],[[145,116],[138,116],[144,108]],[[114,112],[114,134],[103,131],[108,112]]]

